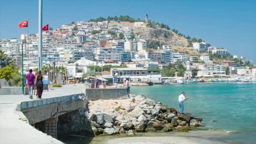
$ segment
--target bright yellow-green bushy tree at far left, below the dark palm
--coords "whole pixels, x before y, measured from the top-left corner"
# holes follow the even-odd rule
[[[13,78],[13,74],[16,73],[18,73],[18,68],[14,67],[13,65],[8,65],[0,69],[0,79],[5,79],[9,81]]]

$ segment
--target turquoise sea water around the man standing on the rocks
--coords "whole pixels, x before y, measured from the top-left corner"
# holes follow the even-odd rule
[[[202,117],[205,128],[224,131],[221,139],[256,143],[256,83],[186,83],[181,85],[133,86],[132,94],[144,94],[179,110],[178,96],[184,91],[184,112]]]

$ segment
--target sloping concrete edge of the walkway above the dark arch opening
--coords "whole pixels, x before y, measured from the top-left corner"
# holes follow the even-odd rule
[[[29,109],[33,107],[40,107],[47,104],[53,104],[63,101],[71,101],[71,100],[80,100],[83,99],[84,93],[77,93],[73,95],[68,96],[59,96],[59,97],[53,97],[53,98],[47,98],[47,99],[37,99],[34,101],[23,101],[21,104],[17,105],[18,111],[23,111],[24,109]]]

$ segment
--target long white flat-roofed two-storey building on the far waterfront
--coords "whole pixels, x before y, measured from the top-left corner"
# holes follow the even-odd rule
[[[159,70],[148,70],[143,67],[111,68],[111,75],[118,74],[120,79],[128,78],[129,81],[150,81],[161,83],[161,72]]]

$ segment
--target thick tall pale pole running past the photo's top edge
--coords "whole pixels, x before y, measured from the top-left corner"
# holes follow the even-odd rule
[[[43,70],[43,54],[42,54],[42,11],[43,11],[43,0],[38,0],[38,63],[39,67],[38,70]]]

